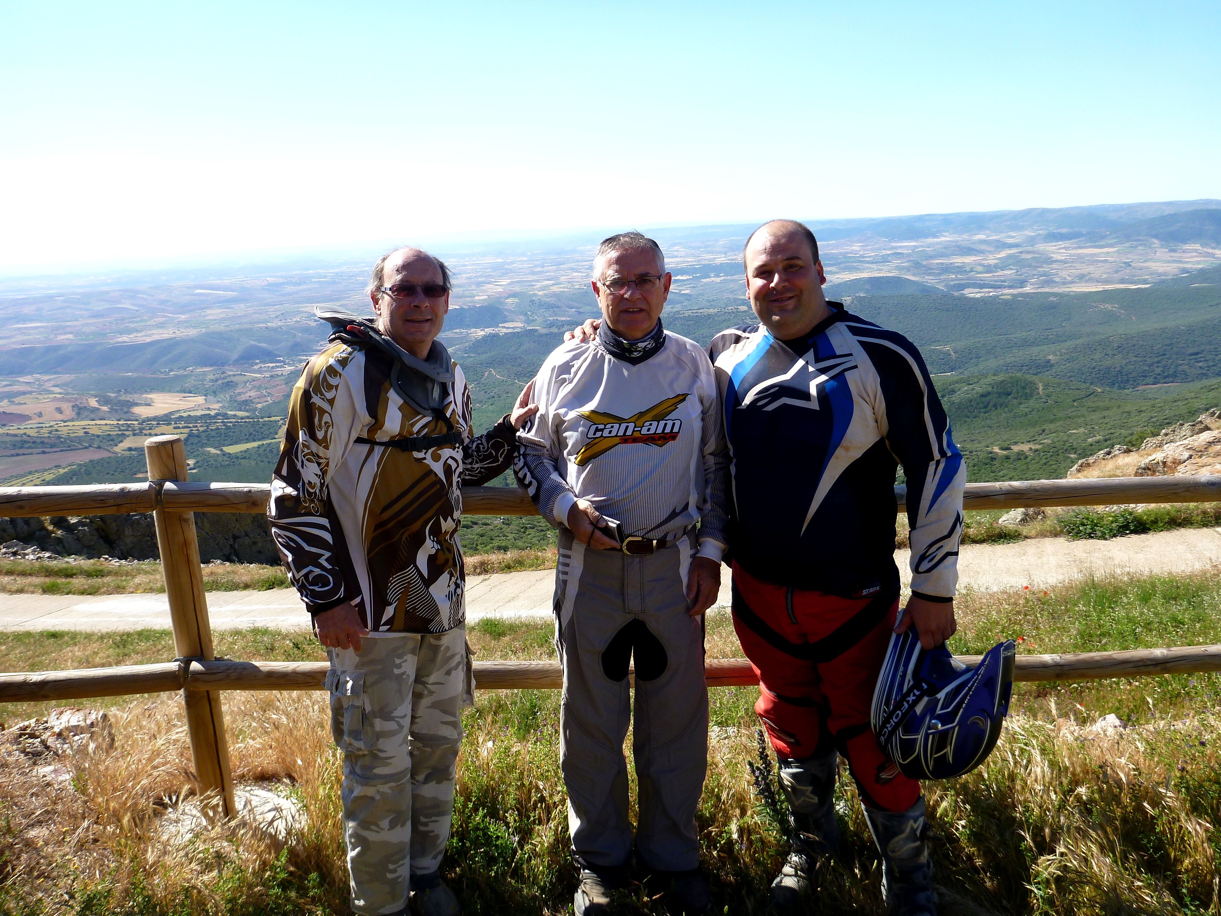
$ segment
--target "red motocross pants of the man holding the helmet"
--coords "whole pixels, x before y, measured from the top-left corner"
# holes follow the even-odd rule
[[[734,563],[733,609],[759,679],[755,712],[777,754],[801,760],[835,747],[867,805],[895,812],[915,805],[919,783],[899,772],[869,724],[897,596],[841,598],[772,585]]]

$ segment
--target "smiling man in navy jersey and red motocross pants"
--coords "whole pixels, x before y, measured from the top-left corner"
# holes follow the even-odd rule
[[[962,454],[911,341],[823,296],[805,225],[761,226],[744,260],[759,324],[717,335],[709,355],[733,459],[734,628],[759,678],[755,710],[792,811],[773,903],[799,911],[836,849],[842,756],[882,851],[890,911],[935,916],[921,787],[880,749],[869,712],[893,630],[915,627],[924,649],[954,634]],[[900,464],[912,572],[901,619]]]

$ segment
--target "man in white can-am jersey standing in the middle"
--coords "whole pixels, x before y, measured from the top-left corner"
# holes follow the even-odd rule
[[[598,245],[593,340],[558,347],[535,376],[538,414],[518,436],[518,480],[559,528],[556,647],[564,669],[560,768],[580,865],[578,916],[610,912],[632,833],[623,741],[639,780],[635,859],[675,909],[711,906],[695,815],[708,756],[703,613],[720,584],[728,456],[712,364],[661,314],[670,275],[639,232]],[[698,528],[697,528],[698,525]]]

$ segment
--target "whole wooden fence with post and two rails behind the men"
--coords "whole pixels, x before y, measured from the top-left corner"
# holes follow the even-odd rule
[[[204,595],[195,512],[265,512],[267,485],[187,482],[181,436],[145,442],[149,482],[96,486],[0,487],[0,517],[106,515],[151,512],[177,658],[159,664],[63,672],[0,674],[0,702],[72,700],[181,690],[195,774],[203,791],[216,793],[226,815],[236,812],[221,690],[320,690],[325,662],[217,661]],[[906,487],[895,487],[905,508]],[[1221,501],[1221,476],[1111,478],[967,484],[968,509],[1184,503]],[[463,490],[463,512],[474,515],[532,515],[524,492],[507,487]],[[304,623],[304,617],[303,617]],[[963,656],[962,661],[972,663]],[[1023,655],[1017,680],[1087,680],[1221,671],[1221,645],[1079,655]],[[708,660],[709,686],[757,683],[745,658]],[[475,662],[482,690],[554,689],[562,684],[558,662]]]

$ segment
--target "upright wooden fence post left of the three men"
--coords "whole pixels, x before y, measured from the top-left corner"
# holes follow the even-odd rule
[[[154,436],[144,443],[149,481],[186,480],[187,449],[182,436]],[[160,496],[160,492],[159,492]],[[156,541],[161,551],[165,592],[173,623],[173,647],[179,658],[212,661],[212,625],[204,597],[204,570],[192,512],[168,512],[160,498],[155,511]],[[183,690],[190,757],[203,791],[215,791],[226,817],[237,813],[230,769],[225,716],[217,690]]]

